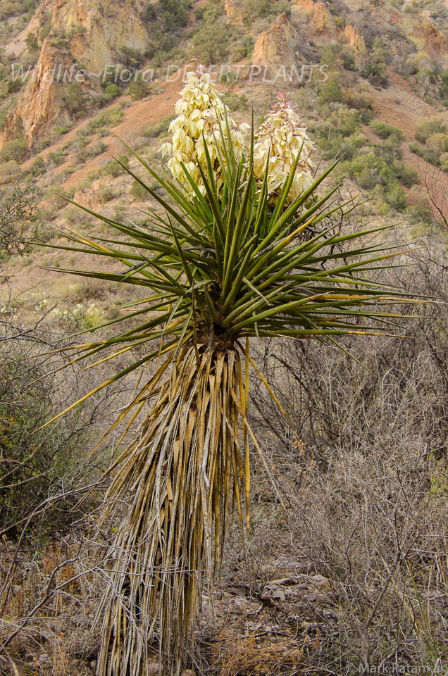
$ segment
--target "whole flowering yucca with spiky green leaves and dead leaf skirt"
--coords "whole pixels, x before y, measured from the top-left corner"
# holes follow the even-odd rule
[[[81,207],[110,234],[67,232],[70,243],[61,247],[119,268],[64,272],[146,290],[120,318],[101,325],[116,328],[113,337],[73,347],[73,362],[143,352],[101,387],[155,364],[115,423],[129,414],[132,430],[150,402],[135,440],[108,470],[105,505],[116,505],[121,520],[100,609],[99,676],[146,674],[154,635],[166,673],[178,675],[199,592],[221,561],[234,506],[247,530],[249,443],[259,449],[247,420],[249,368],[256,368],[251,339],[337,344],[347,334],[390,332],[396,315],[388,306],[404,300],[369,280],[394,255],[374,237],[383,228],[335,232],[337,187],[318,195],[334,165],[311,177],[312,144],[289,104],[280,101],[258,131],[252,123],[244,149],[242,130],[217,101],[205,75],[189,77],[171,127],[177,146],[168,147],[178,180],[137,158],[163,196],[123,165],[158,204],[149,225]],[[183,146],[182,134],[189,137]],[[357,244],[350,249],[350,242]]]

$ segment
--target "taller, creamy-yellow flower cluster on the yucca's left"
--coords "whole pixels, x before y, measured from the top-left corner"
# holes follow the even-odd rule
[[[205,194],[204,184],[199,173],[198,162],[206,171],[206,154],[204,139],[209,149],[211,163],[215,172],[216,187],[223,187],[223,175],[220,156],[225,156],[223,137],[228,142],[228,129],[237,159],[244,151],[244,134],[247,134],[249,125],[237,125],[229,115],[229,108],[223,104],[218,90],[211,82],[209,73],[203,67],[196,72],[187,73],[187,84],[180,92],[181,98],[175,106],[178,116],[170,123],[168,131],[173,134],[170,143],[161,147],[163,155],[169,155],[168,169],[173,177],[185,187],[190,188],[181,163],[185,164],[192,179]],[[225,121],[227,113],[228,123]],[[220,129],[221,128],[221,129]]]

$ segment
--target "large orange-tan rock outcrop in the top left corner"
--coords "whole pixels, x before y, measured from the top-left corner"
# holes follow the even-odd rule
[[[144,4],[144,0],[44,1],[30,25],[6,46],[10,54],[20,56],[26,35],[33,32],[38,37],[51,20],[51,34],[44,39],[35,71],[8,116],[0,134],[0,148],[13,138],[18,124],[23,126],[31,147],[61,115],[67,119],[63,92],[68,82],[99,89],[104,68],[118,63],[120,50],[144,51],[148,37],[140,18]],[[61,77],[72,67],[71,75]],[[81,69],[85,75],[80,75]]]

